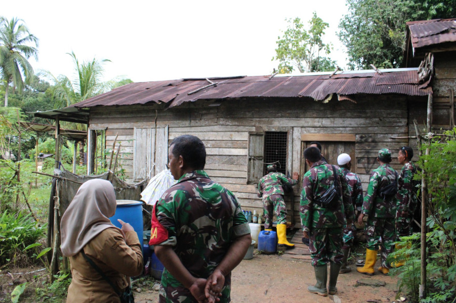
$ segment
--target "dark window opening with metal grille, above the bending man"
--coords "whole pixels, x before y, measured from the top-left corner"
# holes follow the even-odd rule
[[[287,132],[284,131],[267,131],[264,137],[264,163],[275,163],[277,171],[286,174],[286,141]],[[263,175],[266,175],[265,164]]]

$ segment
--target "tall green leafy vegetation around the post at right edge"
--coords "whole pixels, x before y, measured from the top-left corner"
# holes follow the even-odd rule
[[[428,185],[427,287],[422,302],[448,302],[456,298],[456,128],[423,144],[419,166]],[[416,178],[421,180],[422,173]],[[391,257],[405,259],[403,267],[391,271],[399,275],[399,286],[412,302],[419,302],[421,253],[420,234],[403,237],[403,248]],[[394,261],[394,259],[391,259]]]

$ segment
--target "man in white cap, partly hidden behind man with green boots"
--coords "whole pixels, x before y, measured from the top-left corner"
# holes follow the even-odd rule
[[[348,187],[350,189],[350,195],[352,197],[353,208],[356,211],[360,212],[362,207],[362,184],[358,175],[352,173],[350,168],[352,166],[350,155],[340,154],[337,157],[337,164],[339,164],[342,169],[342,174],[347,180]],[[351,268],[347,266],[347,259],[350,254],[350,248],[353,246],[353,241],[355,238],[356,227],[352,223],[344,227],[343,230],[343,246],[342,252],[344,253],[344,259],[342,260],[342,267],[339,273],[345,274],[351,272]]]

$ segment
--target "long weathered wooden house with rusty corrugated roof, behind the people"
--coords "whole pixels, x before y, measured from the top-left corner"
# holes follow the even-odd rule
[[[69,108],[37,116],[88,124],[89,173],[94,170],[94,142],[106,148],[120,142],[121,166],[130,183],[149,178],[168,163],[170,142],[182,134],[206,146],[205,170],[233,191],[243,209],[262,211],[257,182],[266,163],[292,174],[306,171],[302,154],[320,141],[322,154],[336,163],[352,156],[353,170],[366,187],[378,166],[380,148],[416,146],[413,119],[426,121],[429,85],[418,68],[180,79],[131,83]],[[300,183],[301,184],[301,180]],[[301,185],[285,197],[289,222],[300,226]]]

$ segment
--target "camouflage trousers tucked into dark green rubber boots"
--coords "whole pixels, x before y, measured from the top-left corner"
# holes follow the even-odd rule
[[[322,266],[328,262],[342,263],[342,227],[312,228],[309,240],[312,266]]]

